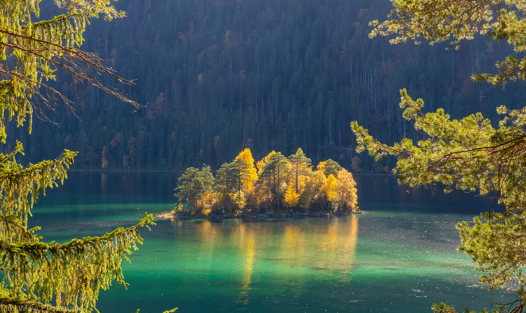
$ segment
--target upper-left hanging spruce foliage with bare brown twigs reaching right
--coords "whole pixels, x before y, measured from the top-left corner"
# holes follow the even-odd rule
[[[89,18],[103,15],[111,20],[125,16],[125,12],[117,11],[110,2],[54,0],[64,14],[39,20],[39,0],[0,1],[0,141],[6,139],[5,117],[8,120],[15,117],[17,126],[29,118],[31,133],[34,112],[47,120],[42,105],[53,109],[52,105],[60,100],[68,111],[74,111],[73,101],[48,84],[49,80],[56,80],[55,72],[60,68],[72,75],[75,83],[83,81],[87,86],[138,106],[118,90],[105,87],[97,76],[111,75],[117,84],[133,82],[118,77],[98,55],[78,49],[84,41],[83,32]]]

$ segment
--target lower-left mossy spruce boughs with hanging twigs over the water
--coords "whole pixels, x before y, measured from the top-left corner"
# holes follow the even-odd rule
[[[22,144],[17,142],[12,153],[0,154],[0,305],[29,306],[36,312],[70,306],[72,312],[92,312],[100,287],[109,288],[113,280],[126,287],[121,260],[128,260],[126,254],[136,250],[137,243],[143,243],[138,228],[155,224],[154,217],[146,214],[137,225],[117,228],[100,237],[64,244],[43,242],[35,234],[40,227],[28,229],[27,218],[39,194],[45,195],[47,187],[58,186],[56,180],[62,183],[67,178],[66,170],[76,152],[65,150],[61,159],[23,168],[15,161],[22,151]],[[51,304],[53,299],[55,305]]]

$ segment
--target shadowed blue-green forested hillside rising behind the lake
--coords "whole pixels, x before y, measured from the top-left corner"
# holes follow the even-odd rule
[[[472,72],[495,71],[495,61],[511,53],[505,43],[480,37],[456,51],[369,39],[367,23],[385,18],[387,0],[121,0],[117,6],[127,17],[94,19],[83,47],[115,59],[120,76],[136,79],[124,91],[145,108],[69,81],[57,88],[76,99],[79,119],[43,108],[60,127],[35,120],[28,135],[27,126],[9,123],[13,135],[3,149],[20,139],[31,152],[25,161],[71,149],[83,169],[201,163],[217,169],[244,148],[256,161],[272,150],[289,155],[301,148],[315,163],[331,158],[350,168],[353,120],[382,142],[419,137],[401,117],[400,88],[423,98],[424,109],[442,107],[453,117],[477,111],[494,117],[501,104],[524,106],[524,82],[509,88],[470,80]],[[359,158],[355,172],[394,164],[387,158],[373,164],[365,153]]]

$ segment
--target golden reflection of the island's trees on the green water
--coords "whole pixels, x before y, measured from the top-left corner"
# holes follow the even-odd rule
[[[308,280],[329,279],[331,284],[350,281],[349,271],[356,257],[358,216],[341,221],[335,218],[330,223],[312,221],[320,223],[288,221],[273,228],[265,222],[241,220],[219,223],[174,220],[172,225],[179,235],[195,232],[199,256],[203,257],[199,269],[215,272],[218,266],[225,266],[237,281],[236,302],[248,308],[253,305],[252,294],[259,292],[259,287],[253,285],[258,281],[261,284],[261,279],[272,285],[269,289],[272,293],[291,294],[295,299],[310,293]],[[226,257],[222,255],[225,249],[230,251]],[[219,264],[219,260],[224,263]],[[279,275],[264,278],[269,270]]]

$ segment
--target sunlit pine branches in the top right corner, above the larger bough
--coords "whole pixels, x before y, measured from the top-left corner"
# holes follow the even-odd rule
[[[395,35],[391,44],[408,39],[419,44],[420,39],[431,45],[449,43],[448,48],[458,49],[464,40],[476,34],[491,36],[495,40],[507,39],[515,53],[526,50],[525,9],[521,0],[391,0],[394,5],[388,19],[369,23],[375,28],[369,37]],[[497,62],[499,74],[474,74],[475,80],[500,84],[516,79],[526,79],[524,58],[508,56]]]

